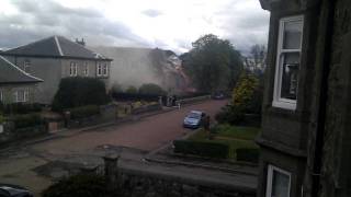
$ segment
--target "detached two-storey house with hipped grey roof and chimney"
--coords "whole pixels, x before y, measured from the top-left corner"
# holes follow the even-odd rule
[[[109,83],[112,59],[87,49],[83,42],[75,43],[63,36],[47,37],[0,55],[44,80],[34,95],[37,103],[50,104],[63,78],[90,77]]]

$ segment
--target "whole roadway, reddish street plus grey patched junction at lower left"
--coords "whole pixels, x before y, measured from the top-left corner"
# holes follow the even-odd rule
[[[206,101],[181,109],[148,116],[122,125],[79,132],[66,138],[27,147],[19,144],[19,149],[0,154],[0,183],[26,186],[37,195],[39,190],[52,183],[47,177],[33,171],[38,166],[67,159],[70,155],[88,154],[97,147],[105,144],[131,147],[144,151],[155,150],[190,132],[189,129],[182,128],[182,120],[188,112],[199,109],[214,117],[226,102]]]

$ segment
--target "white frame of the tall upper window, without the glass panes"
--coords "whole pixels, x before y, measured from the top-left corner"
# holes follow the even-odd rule
[[[298,49],[284,49],[283,48],[283,40],[284,40],[285,23],[298,22],[298,21],[302,22],[302,37],[301,37],[299,48]],[[282,55],[287,54],[287,53],[299,53],[299,58],[301,58],[303,37],[304,37],[304,15],[288,16],[288,18],[283,18],[280,20],[279,39],[278,39],[278,47],[276,47],[274,93],[273,93],[273,102],[272,102],[272,106],[274,106],[274,107],[292,109],[292,111],[296,109],[297,97],[296,97],[296,100],[288,100],[288,99],[281,97],[282,77],[283,77],[282,62],[284,60],[282,58]],[[301,65],[299,65],[298,69],[301,69]],[[297,92],[298,92],[298,89],[297,89]]]

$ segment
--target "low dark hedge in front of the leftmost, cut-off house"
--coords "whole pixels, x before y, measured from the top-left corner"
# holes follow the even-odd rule
[[[35,127],[44,124],[43,118],[38,114],[15,115],[12,116],[11,119],[13,120],[16,129]]]

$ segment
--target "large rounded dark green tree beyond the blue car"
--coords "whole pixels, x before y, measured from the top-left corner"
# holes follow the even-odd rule
[[[241,55],[227,39],[207,34],[181,56],[185,72],[201,92],[233,88],[242,68]]]

